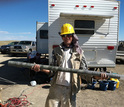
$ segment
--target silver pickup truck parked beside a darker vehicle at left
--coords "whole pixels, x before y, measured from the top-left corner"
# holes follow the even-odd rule
[[[20,41],[17,45],[10,47],[11,54],[25,54],[29,51],[36,50],[36,42],[35,41]]]

